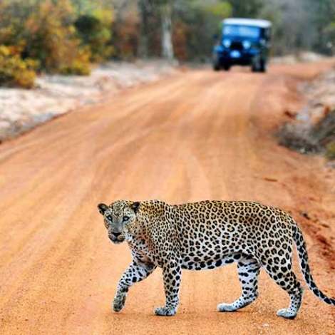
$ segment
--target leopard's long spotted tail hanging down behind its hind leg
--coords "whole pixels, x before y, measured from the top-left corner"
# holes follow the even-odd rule
[[[301,230],[299,229],[297,223],[294,221],[292,222],[292,230],[293,230],[293,239],[297,245],[297,250],[299,254],[301,271],[302,271],[302,274],[304,275],[304,279],[306,281],[307,286],[309,287],[311,292],[313,292],[316,295],[316,297],[326,302],[326,304],[335,306],[335,299],[331,299],[327,297],[326,294],[321,292],[316,287],[313,277],[311,277],[311,271],[309,269],[309,264],[308,264],[308,254],[307,254],[307,249],[306,249],[306,243],[304,241],[304,237],[302,236]]]

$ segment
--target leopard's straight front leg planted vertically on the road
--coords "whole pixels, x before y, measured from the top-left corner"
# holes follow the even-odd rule
[[[172,316],[177,312],[181,277],[182,268],[179,260],[172,260],[163,265],[163,280],[166,301],[165,306],[155,309],[156,315]]]

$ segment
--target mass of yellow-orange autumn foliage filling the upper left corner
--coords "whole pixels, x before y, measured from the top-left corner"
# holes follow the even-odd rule
[[[87,75],[91,61],[113,50],[110,10],[88,15],[71,0],[4,0],[0,17],[0,85],[32,87],[36,71]]]

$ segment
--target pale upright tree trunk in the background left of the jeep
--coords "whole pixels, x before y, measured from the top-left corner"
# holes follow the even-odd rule
[[[172,44],[172,4],[167,1],[160,7],[160,19],[162,29],[162,56],[168,61],[173,61],[175,54]]]

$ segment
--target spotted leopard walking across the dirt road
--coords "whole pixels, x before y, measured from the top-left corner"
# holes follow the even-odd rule
[[[154,313],[175,315],[182,269],[216,269],[236,262],[242,294],[236,301],[218,304],[218,311],[237,311],[256,300],[259,272],[264,269],[289,294],[288,308],[279,309],[277,316],[294,319],[304,288],[292,270],[293,242],[307,287],[326,304],[335,306],[335,299],[321,292],[311,276],[306,242],[297,222],[279,208],[236,200],[181,205],[161,200],[117,200],[110,205],[100,203],[98,210],[111,242],[127,242],[133,259],[118,282],[115,312],[125,306],[128,289],[160,267],[165,305]]]

